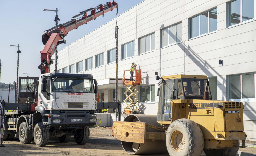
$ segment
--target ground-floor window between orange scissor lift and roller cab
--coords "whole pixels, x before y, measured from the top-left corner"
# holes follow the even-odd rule
[[[155,85],[140,86],[140,102],[155,102]]]

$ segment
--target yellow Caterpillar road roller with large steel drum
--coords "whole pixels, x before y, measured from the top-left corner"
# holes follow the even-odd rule
[[[131,154],[234,156],[245,148],[242,102],[212,100],[207,76],[156,76],[157,115],[114,121],[112,136]]]

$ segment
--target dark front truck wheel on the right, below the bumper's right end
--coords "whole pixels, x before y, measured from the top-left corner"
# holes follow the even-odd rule
[[[88,142],[90,130],[88,126],[75,131],[74,139],[77,144],[85,144]]]

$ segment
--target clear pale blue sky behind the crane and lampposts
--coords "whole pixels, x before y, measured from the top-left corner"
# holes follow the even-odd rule
[[[112,0],[113,1],[113,0]],[[112,2],[111,1],[111,2]],[[118,14],[129,10],[143,0],[117,0]],[[40,51],[44,48],[42,34],[46,29],[55,26],[55,10],[58,8],[60,23],[65,23],[78,14],[99,4],[106,4],[107,0],[1,0],[0,1],[0,59],[1,82],[8,84],[16,81],[17,50],[18,47],[10,45],[20,44],[19,76],[38,77],[40,75]],[[65,37],[67,43],[59,46],[59,50],[85,36],[108,21],[116,18],[116,9],[108,12],[104,17],[88,22],[78,27]],[[53,64],[54,65],[54,64]],[[53,71],[51,71],[53,72]]]

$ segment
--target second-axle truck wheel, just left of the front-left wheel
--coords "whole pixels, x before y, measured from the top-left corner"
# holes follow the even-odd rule
[[[27,129],[27,123],[23,122],[19,127],[19,140],[21,144],[29,144],[32,141],[32,130]]]

